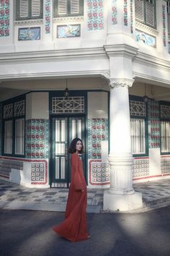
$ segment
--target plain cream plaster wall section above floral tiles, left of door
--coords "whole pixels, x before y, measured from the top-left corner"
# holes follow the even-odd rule
[[[28,93],[26,95],[26,120],[49,118],[48,93]]]

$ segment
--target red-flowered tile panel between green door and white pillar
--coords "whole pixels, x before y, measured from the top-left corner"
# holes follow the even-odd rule
[[[88,119],[88,158],[101,159],[102,140],[108,140],[108,120]]]

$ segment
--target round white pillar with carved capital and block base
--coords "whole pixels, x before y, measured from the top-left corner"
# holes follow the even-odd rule
[[[130,144],[130,79],[110,80],[110,189],[104,191],[104,210],[128,211],[142,207],[141,193],[133,190]]]

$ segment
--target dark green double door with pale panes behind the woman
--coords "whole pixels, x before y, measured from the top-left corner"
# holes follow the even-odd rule
[[[52,117],[52,187],[68,187],[70,182],[70,154],[68,147],[71,140],[80,137],[85,144],[85,121],[84,116]],[[83,156],[84,157],[84,156]],[[84,160],[84,159],[83,159]],[[85,161],[84,161],[85,170]]]

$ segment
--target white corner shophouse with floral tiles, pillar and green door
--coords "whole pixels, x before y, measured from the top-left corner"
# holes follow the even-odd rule
[[[169,46],[170,1],[1,0],[0,176],[68,187],[81,137],[104,209],[140,207],[170,175]]]

